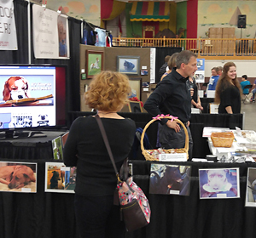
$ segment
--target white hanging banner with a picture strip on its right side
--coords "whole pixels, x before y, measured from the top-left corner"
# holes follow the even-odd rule
[[[36,59],[69,59],[67,16],[34,4],[33,46]]]

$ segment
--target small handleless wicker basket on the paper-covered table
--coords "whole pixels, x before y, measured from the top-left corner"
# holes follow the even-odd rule
[[[212,133],[211,134],[212,144],[214,147],[226,147],[232,146],[233,140],[235,139],[234,133]]]

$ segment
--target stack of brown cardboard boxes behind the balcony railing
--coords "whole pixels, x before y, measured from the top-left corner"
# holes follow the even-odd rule
[[[212,50],[214,53],[234,52],[235,27],[211,27],[209,28],[209,38],[212,40]],[[223,39],[219,40],[218,39]]]

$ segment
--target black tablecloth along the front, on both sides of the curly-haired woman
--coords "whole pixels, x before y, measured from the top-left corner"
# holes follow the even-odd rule
[[[45,160],[29,162],[38,163],[37,193],[0,192],[0,237],[77,237],[73,194],[44,192]],[[256,167],[254,163],[170,162],[192,167],[190,194],[183,196],[148,194],[150,165],[155,161],[130,162],[135,182],[148,196],[152,215],[147,227],[128,233],[125,238],[255,237],[255,208],[244,206],[247,167]],[[208,167],[239,167],[241,197],[200,200],[198,169]]]

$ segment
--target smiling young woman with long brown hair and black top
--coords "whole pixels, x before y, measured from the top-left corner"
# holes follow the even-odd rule
[[[219,104],[218,113],[240,113],[241,94],[241,85],[236,78],[236,65],[228,62],[224,65],[215,91],[215,103]]]

